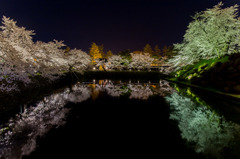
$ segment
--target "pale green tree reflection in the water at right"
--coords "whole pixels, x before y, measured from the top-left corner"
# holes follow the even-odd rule
[[[223,158],[222,151],[233,144],[233,139],[240,140],[240,126],[227,122],[206,106],[197,106],[177,93],[166,100],[173,110],[170,119],[178,121],[182,138],[194,143],[196,152]]]

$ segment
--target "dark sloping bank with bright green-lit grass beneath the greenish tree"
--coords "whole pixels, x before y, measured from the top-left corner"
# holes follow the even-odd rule
[[[214,94],[240,99],[240,53],[222,58],[203,59],[186,65],[167,77],[168,80]]]

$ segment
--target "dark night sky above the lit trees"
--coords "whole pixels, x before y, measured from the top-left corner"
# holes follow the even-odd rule
[[[104,51],[142,50],[145,44],[181,42],[191,16],[219,0],[0,0],[0,16],[34,30],[34,41],[63,40],[88,52],[92,42]],[[239,0],[223,0],[225,6]]]

